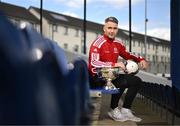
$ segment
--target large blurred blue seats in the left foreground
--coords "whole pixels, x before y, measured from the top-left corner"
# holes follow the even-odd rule
[[[68,69],[55,42],[0,17],[0,125],[90,124],[86,62]]]

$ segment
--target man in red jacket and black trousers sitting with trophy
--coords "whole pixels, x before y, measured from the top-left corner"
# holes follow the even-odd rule
[[[91,88],[104,86],[106,83],[104,80],[98,78],[96,68],[120,67],[125,70],[124,63],[117,62],[119,56],[123,57],[125,60],[131,59],[138,62],[139,67],[142,69],[148,66],[148,63],[143,57],[138,57],[127,52],[123,43],[115,39],[118,32],[118,20],[115,17],[108,17],[105,19],[103,31],[104,35],[99,36],[90,47],[89,72]],[[117,88],[120,88],[120,92],[118,94],[112,94],[111,111],[108,112],[108,115],[115,121],[141,121],[141,118],[134,116],[131,112],[132,102],[142,84],[141,79],[131,74],[122,74],[113,80],[112,83]],[[128,88],[128,90],[123,106],[119,108],[119,99],[126,88]]]

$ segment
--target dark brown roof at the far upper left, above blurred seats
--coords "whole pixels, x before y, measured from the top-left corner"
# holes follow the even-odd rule
[[[0,11],[8,17],[25,19],[31,22],[39,23],[39,20],[24,7],[0,2]]]

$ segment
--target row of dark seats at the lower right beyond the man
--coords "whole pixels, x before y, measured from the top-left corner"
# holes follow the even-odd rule
[[[142,89],[139,91],[141,96],[146,99],[152,109],[156,112],[160,112],[163,116],[162,109],[165,109],[166,119],[168,118],[168,112],[172,114],[171,124],[175,124],[175,116],[180,117],[180,90],[175,86],[162,85],[156,83],[144,82]],[[160,107],[161,111],[157,111]]]

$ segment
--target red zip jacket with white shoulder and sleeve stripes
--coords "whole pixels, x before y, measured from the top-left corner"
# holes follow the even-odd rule
[[[135,56],[127,52],[122,42],[110,39],[106,35],[99,36],[91,44],[89,51],[89,71],[91,75],[96,74],[96,68],[113,67],[119,56],[125,60],[132,59],[136,62],[144,60],[141,56]]]

